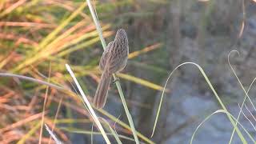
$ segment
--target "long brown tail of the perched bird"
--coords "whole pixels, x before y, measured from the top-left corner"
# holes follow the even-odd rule
[[[103,72],[94,96],[94,106],[98,109],[105,106],[110,82],[111,82],[111,74],[106,74],[106,72]]]

